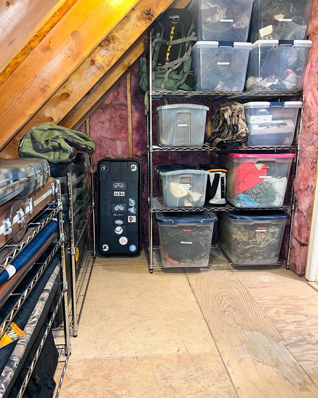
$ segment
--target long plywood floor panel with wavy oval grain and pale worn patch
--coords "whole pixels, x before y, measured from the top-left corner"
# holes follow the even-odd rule
[[[318,388],[233,271],[187,276],[239,397],[318,397]]]

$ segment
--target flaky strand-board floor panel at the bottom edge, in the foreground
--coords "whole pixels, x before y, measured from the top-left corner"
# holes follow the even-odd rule
[[[235,398],[217,353],[70,361],[60,398]]]

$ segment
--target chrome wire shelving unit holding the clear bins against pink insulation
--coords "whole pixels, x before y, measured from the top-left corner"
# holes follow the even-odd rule
[[[184,207],[184,208],[166,208],[163,205],[163,199],[161,197],[153,197],[153,153],[154,152],[191,152],[191,151],[211,151],[211,152],[222,152],[222,150],[212,146],[202,146],[200,148],[195,147],[173,147],[163,148],[156,144],[153,144],[153,102],[154,101],[237,101],[244,103],[246,101],[259,101],[259,100],[291,100],[292,98],[298,97],[303,100],[301,91],[275,91],[275,92],[200,92],[200,91],[166,91],[166,90],[153,90],[152,80],[149,76],[152,75],[152,66],[149,60],[152,59],[152,47],[151,47],[151,32],[148,35],[148,87],[147,92],[147,203],[148,203],[148,255],[149,255],[149,272],[152,273],[153,269],[163,269],[165,266],[161,262],[161,252],[159,246],[153,245],[153,215],[159,211],[172,212],[172,211],[227,211],[227,210],[240,210],[229,203],[224,206],[207,206],[207,207]],[[299,142],[299,135],[301,134],[301,113],[297,120],[297,140]],[[293,144],[289,146],[241,146],[235,151],[253,151],[253,150],[271,150],[273,152],[295,152],[296,157],[293,165],[293,177],[295,178],[298,168],[298,154],[299,144]],[[290,212],[291,219],[288,231],[288,248],[287,257],[280,255],[277,265],[286,265],[289,268],[289,254],[291,244],[291,228],[293,224],[293,217],[295,211],[295,192],[292,189],[291,192],[291,203],[284,203],[282,207],[271,209],[271,210],[286,210]],[[243,210],[243,209],[242,209]],[[244,209],[246,210],[246,209]],[[260,209],[258,209],[260,210]],[[227,257],[224,250],[216,243],[212,242],[209,266],[229,266],[233,265],[231,260]],[[260,264],[258,264],[260,265]],[[266,264],[262,264],[266,265]],[[184,265],[175,265],[173,267],[184,267]],[[188,267],[188,266],[186,266]],[[194,267],[198,267],[194,265]]]

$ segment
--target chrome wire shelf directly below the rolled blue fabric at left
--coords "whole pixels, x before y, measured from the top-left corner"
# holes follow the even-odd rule
[[[52,260],[52,258],[55,256],[55,254],[60,250],[60,247],[62,245],[62,242],[64,242],[64,236],[60,238],[60,240],[56,243],[54,246],[53,250],[48,254],[47,258],[45,259],[44,263],[42,264],[41,268],[37,272],[37,274],[34,276],[32,281],[29,283],[29,286],[22,292],[15,292],[10,294],[10,298],[16,298],[16,302],[12,308],[12,310],[6,315],[6,317],[1,320],[1,325],[0,329],[2,330],[1,336],[6,332],[8,329],[8,326],[10,323],[14,320],[16,314],[19,312],[21,306],[25,302],[25,300],[29,297],[29,294],[39,281],[40,277],[43,275],[45,269],[47,269],[48,264]],[[39,263],[35,263],[35,265],[39,265]],[[10,299],[9,298],[9,299]]]

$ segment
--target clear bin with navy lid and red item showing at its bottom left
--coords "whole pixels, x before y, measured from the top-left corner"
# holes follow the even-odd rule
[[[156,213],[165,267],[207,266],[214,222],[211,212]]]

